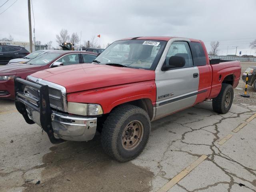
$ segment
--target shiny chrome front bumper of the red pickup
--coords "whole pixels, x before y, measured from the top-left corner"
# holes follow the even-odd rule
[[[36,124],[40,124],[40,113],[26,106],[28,117]],[[56,139],[70,141],[88,141],[94,138],[97,127],[97,118],[83,118],[70,116],[52,111],[52,129]]]

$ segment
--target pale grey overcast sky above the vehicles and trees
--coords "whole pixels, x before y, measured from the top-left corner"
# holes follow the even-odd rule
[[[0,13],[15,0],[9,0]],[[0,0],[2,5],[6,0]],[[220,41],[218,54],[250,54],[256,39],[256,0],[32,0],[36,40],[52,41],[62,28],[77,32],[82,42],[91,36],[102,46],[135,36],[178,36]],[[28,41],[28,5],[18,0],[0,15],[0,38],[11,34],[15,41]],[[32,28],[34,27],[32,16]],[[256,50],[252,50],[255,55]]]

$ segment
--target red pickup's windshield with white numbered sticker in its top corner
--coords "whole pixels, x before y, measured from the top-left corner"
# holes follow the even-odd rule
[[[155,70],[166,43],[158,40],[116,41],[108,46],[94,63]]]

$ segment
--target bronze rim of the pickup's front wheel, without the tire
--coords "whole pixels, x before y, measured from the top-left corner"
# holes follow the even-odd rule
[[[133,150],[142,140],[144,127],[142,122],[134,120],[124,128],[122,134],[122,146],[126,150]]]

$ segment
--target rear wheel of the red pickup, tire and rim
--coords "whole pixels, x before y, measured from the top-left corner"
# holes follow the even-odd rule
[[[229,99],[228,99],[228,98]],[[220,93],[212,100],[212,108],[215,112],[225,114],[230,110],[234,98],[232,85],[223,83]]]

